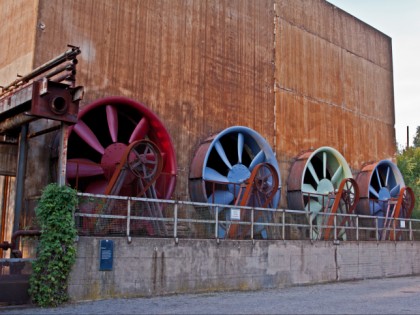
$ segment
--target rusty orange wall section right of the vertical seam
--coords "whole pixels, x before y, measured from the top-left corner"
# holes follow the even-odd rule
[[[340,151],[355,171],[392,158],[391,38],[323,0],[278,0],[275,14],[282,177],[300,151],[320,146]]]

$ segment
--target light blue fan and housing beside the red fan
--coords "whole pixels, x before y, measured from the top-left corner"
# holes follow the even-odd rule
[[[207,138],[200,144],[191,163],[191,200],[234,204],[239,197],[241,184],[250,177],[255,166],[263,162],[271,164],[280,178],[278,163],[270,145],[250,128],[233,126]],[[276,208],[280,200],[280,189],[276,189],[278,191],[270,204],[272,208]],[[207,211],[210,212],[209,209]],[[220,210],[221,219],[227,218],[223,211]],[[212,213],[208,215],[213,216]],[[220,226],[219,237],[224,237],[224,234],[224,227]]]

